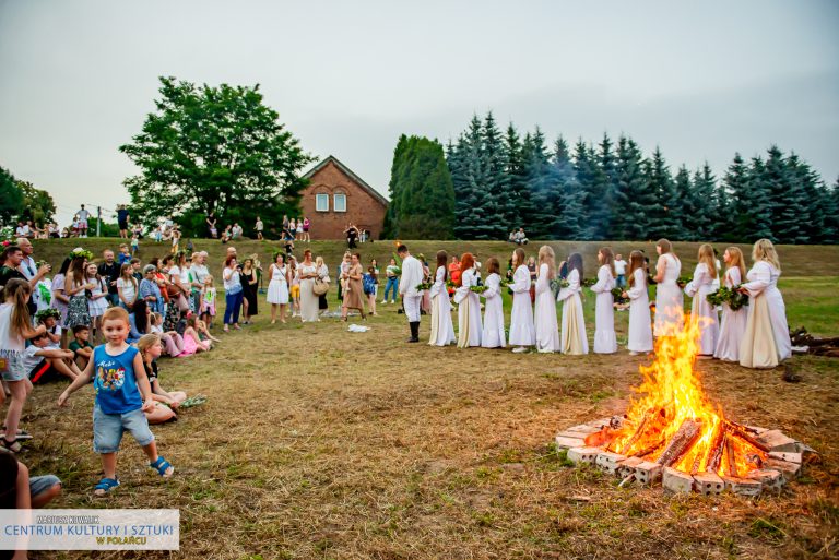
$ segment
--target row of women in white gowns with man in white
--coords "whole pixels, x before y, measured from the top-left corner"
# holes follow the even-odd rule
[[[422,265],[420,272],[406,279],[407,262],[413,265],[416,260],[401,247],[400,254],[405,260],[399,293],[405,298],[406,312],[409,298],[420,298],[420,301],[424,295],[430,296],[429,344],[437,346],[457,343],[459,347],[504,348],[509,345],[516,353],[533,348],[542,353],[588,354],[582,306],[583,288],[588,287],[595,297],[592,350],[596,354],[617,352],[614,311],[628,308],[627,349],[633,355],[651,353],[653,337],[674,334],[687,317],[701,324],[700,357],[740,362],[749,368],[771,368],[791,356],[783,297],[777,286],[781,265],[771,241],[760,239],[754,245],[748,273],[738,248],[725,249],[723,271],[713,248],[702,245],[690,278],[681,277],[682,261],[670,241],[661,239],[655,247],[659,259],[654,273],[648,270],[642,251],[633,251],[627,263],[619,254],[613,254],[611,248],[601,248],[596,276],[590,282],[586,281],[580,253],[569,254],[557,266],[554,250],[548,246],[540,248],[537,266],[532,258],[527,258],[523,248],[517,248],[505,277],[495,258],[488,259],[486,270],[482,271],[481,263],[471,253],[454,257],[449,264],[448,254],[440,251],[433,283],[427,287],[423,284]],[[482,272],[486,274],[483,282]],[[453,289],[448,289],[449,281]],[[652,305],[650,285],[655,287]],[[747,306],[709,301],[709,296],[721,286],[742,299],[747,297]],[[505,287],[512,294],[509,330],[505,329],[501,307]],[[692,298],[688,315],[683,312],[685,295]],[[563,303],[559,320],[557,301]],[[452,303],[458,306],[457,334],[451,318]],[[410,342],[418,339],[418,313],[409,315]]]

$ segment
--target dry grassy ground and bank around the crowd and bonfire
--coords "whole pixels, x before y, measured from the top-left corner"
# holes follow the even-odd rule
[[[85,247],[98,251],[106,243],[113,240],[86,240]],[[36,255],[57,261],[75,245],[38,245]],[[196,245],[220,263],[221,245]],[[339,243],[311,245],[334,266]],[[409,246],[426,255],[438,246],[476,249],[484,259],[510,249]],[[265,247],[272,246],[237,243],[240,254]],[[595,247],[580,247],[590,273]],[[376,242],[362,252],[382,262],[391,249]],[[677,250],[687,263],[695,246]],[[143,251],[153,254],[151,246]],[[837,249],[780,252],[790,324],[839,334],[839,279],[831,269]],[[593,320],[592,306],[587,298],[587,320]],[[726,415],[779,428],[815,448],[822,461],[780,496],[670,496],[661,488],[617,488],[593,469],[570,467],[551,445],[567,426],[623,412],[648,358],[406,345],[404,315],[394,307],[380,307],[381,317],[362,334],[347,333],[335,320],[272,326],[262,307],[253,325],[224,335],[211,354],[162,360],[165,388],[209,396],[177,422],[154,428],[162,453],[177,468],[169,481],[144,467],[128,439],[119,460],[122,487],[108,499],[92,499],[101,476],[91,451],[93,394],[81,391],[69,409],[59,410],[61,383],[34,392],[23,424],[36,439],[22,460],[36,474],[64,480],[57,507],[180,509],[180,552],[97,558],[839,555],[839,361],[794,357],[791,367],[803,377],[797,384],[783,382],[780,369],[700,361],[706,389]],[[625,342],[627,313],[616,317],[618,341]],[[427,335],[424,319],[421,336]]]

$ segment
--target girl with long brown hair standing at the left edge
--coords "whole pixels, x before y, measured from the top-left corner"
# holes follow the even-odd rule
[[[32,391],[28,371],[23,362],[27,338],[34,338],[46,332],[43,324],[32,327],[27,302],[32,295],[29,283],[12,278],[3,288],[5,301],[0,303],[0,372],[9,385],[11,400],[5,414],[5,431],[0,438],[0,451],[21,451],[17,442],[17,425],[21,421],[23,405]],[[5,400],[5,392],[0,391],[0,404]],[[9,434],[12,437],[9,438]]]

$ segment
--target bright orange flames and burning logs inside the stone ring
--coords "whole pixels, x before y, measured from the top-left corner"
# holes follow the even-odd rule
[[[685,473],[701,473],[708,469],[714,451],[719,453],[723,441],[720,430],[728,424],[722,408],[708,400],[694,369],[704,323],[689,315],[686,319],[684,326],[674,324],[667,336],[659,337],[652,365],[640,367],[643,382],[635,391],[641,396],[631,401],[608,449],[655,461],[683,422],[695,421],[699,424],[699,436],[672,466]],[[717,468],[711,469],[718,475],[742,476],[758,467],[759,461],[753,455],[766,458],[760,450],[743,439],[726,436],[724,442],[730,453],[722,453]]]

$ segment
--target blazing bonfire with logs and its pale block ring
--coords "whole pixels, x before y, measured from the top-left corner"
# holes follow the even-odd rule
[[[695,369],[701,327],[688,315],[684,327],[659,338],[625,415],[562,432],[557,444],[568,457],[594,463],[623,484],[663,478],[676,491],[717,493],[729,487],[754,495],[796,475],[810,448],[726,418],[702,390]]]

